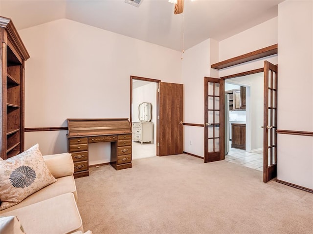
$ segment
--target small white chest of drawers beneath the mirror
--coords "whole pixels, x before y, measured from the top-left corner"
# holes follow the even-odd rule
[[[153,123],[133,122],[133,140],[153,144]]]

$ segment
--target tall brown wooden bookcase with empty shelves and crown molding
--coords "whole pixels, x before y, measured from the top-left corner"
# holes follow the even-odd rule
[[[0,17],[0,157],[24,151],[24,67],[29,54],[12,20]]]

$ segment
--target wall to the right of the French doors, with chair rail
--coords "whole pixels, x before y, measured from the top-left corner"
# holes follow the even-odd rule
[[[313,132],[313,1],[278,5],[278,129]],[[313,137],[278,135],[278,179],[313,189]]]

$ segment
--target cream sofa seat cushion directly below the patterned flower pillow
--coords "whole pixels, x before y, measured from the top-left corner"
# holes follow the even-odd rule
[[[28,196],[27,198],[22,200],[19,204],[16,204],[15,206],[11,206],[3,211],[0,211],[0,216],[4,212],[12,211],[12,210],[24,207],[24,206],[28,206],[28,205],[31,205],[40,201],[44,201],[54,196],[67,194],[67,193],[72,193],[75,197],[75,200],[77,201],[76,185],[75,185],[75,179],[73,175],[58,178],[58,181]]]

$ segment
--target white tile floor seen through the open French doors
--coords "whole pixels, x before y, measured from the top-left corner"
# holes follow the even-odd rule
[[[241,164],[245,167],[263,172],[263,150],[250,153],[244,150],[231,148],[231,141],[229,142],[229,153],[225,156],[226,161]]]

